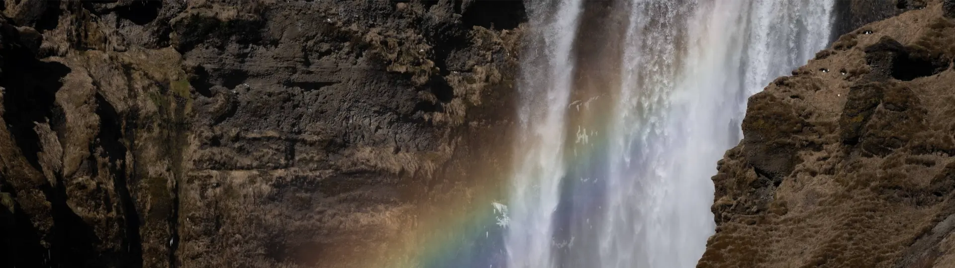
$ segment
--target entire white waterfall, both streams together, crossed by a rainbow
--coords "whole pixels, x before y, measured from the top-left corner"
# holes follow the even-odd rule
[[[507,264],[694,267],[746,99],[828,45],[834,0],[528,0]]]

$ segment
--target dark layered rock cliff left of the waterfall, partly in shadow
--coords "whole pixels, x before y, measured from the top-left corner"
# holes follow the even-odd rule
[[[17,0],[2,15],[4,265],[343,267],[490,167],[524,10]]]

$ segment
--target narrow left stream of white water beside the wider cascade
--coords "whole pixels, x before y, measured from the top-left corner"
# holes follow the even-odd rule
[[[570,51],[581,0],[531,3],[533,29],[521,63],[520,141],[504,242],[509,267],[553,267],[551,230],[564,174],[563,122],[571,88]],[[552,11],[556,9],[556,11]]]

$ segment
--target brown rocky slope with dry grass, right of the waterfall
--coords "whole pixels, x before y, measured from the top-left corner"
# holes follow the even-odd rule
[[[698,267],[955,267],[955,2],[921,5],[750,98]]]

